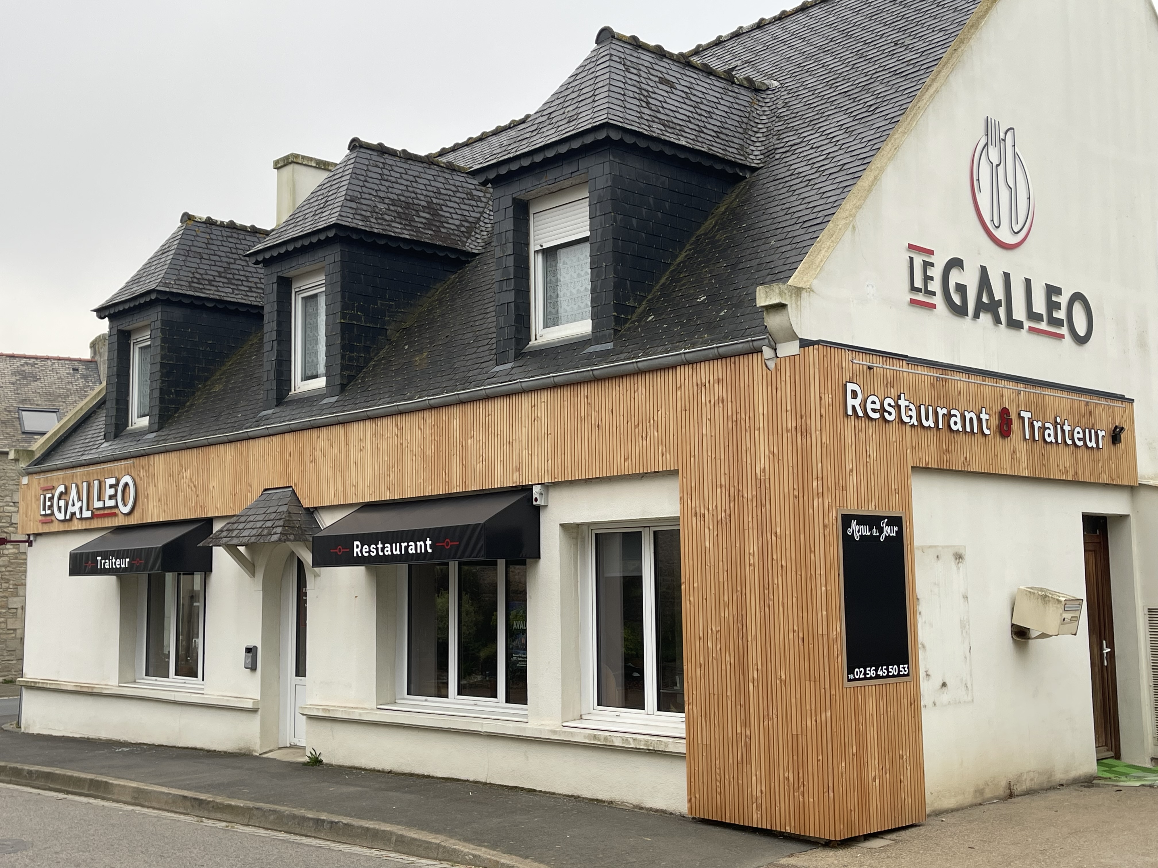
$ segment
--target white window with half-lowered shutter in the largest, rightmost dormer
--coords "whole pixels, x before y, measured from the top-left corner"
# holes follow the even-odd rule
[[[533,199],[532,341],[591,333],[591,218],[587,185]]]

